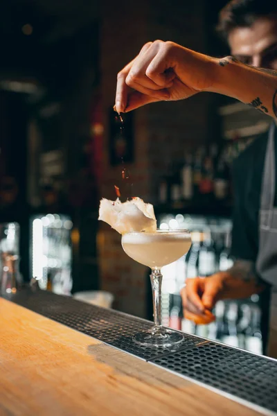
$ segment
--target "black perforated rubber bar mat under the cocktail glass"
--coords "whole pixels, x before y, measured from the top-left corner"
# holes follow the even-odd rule
[[[257,406],[257,410],[263,408],[267,414],[277,415],[277,360],[188,334],[184,334],[184,342],[174,351],[140,347],[132,336],[151,327],[152,322],[46,291],[20,291],[10,300],[175,374],[241,399],[244,404]]]

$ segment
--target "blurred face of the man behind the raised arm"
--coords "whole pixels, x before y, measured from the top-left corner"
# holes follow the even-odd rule
[[[258,17],[250,27],[233,29],[231,54],[253,67],[277,70],[277,16]]]

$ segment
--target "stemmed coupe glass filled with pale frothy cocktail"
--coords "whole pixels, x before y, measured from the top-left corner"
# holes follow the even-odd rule
[[[129,257],[152,269],[150,279],[154,326],[148,331],[136,333],[134,342],[152,347],[170,347],[181,343],[184,336],[180,332],[170,331],[161,324],[161,268],[188,252],[191,245],[190,232],[186,229],[129,232],[123,234],[121,243]]]

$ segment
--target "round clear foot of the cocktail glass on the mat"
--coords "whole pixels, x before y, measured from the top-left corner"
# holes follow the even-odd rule
[[[159,328],[149,329],[148,331],[136,333],[133,341],[143,347],[170,347],[181,343],[184,336],[170,329]]]

